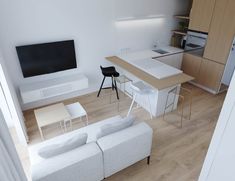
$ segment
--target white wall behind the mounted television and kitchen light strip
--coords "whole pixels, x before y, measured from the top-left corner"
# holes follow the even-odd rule
[[[131,50],[150,48],[156,41],[168,44],[175,26],[174,14],[184,13],[186,0],[1,0],[0,47],[13,84],[58,77],[72,72],[85,73],[90,81],[89,90],[37,104],[34,107],[97,90],[102,75],[99,65],[108,65],[104,57],[122,48]],[[126,16],[161,14],[161,20],[117,25],[115,20]],[[74,39],[78,69],[24,79],[15,46]],[[17,92],[19,96],[19,92]]]

